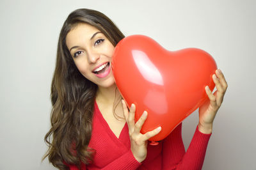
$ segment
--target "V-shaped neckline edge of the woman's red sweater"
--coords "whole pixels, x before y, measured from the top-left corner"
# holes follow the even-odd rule
[[[102,113],[100,112],[99,106],[95,100],[95,113],[98,116],[99,120],[102,123],[102,126],[104,127],[104,129],[106,130],[106,132],[108,132],[108,135],[112,138],[115,139],[118,143],[124,143],[125,139],[125,135],[128,135],[129,130],[128,130],[128,125],[127,123],[125,123],[124,127],[122,128],[119,137],[116,137],[116,135],[114,134],[114,132],[111,130],[111,128],[108,125],[108,122],[104,119],[104,117],[102,116]],[[126,140],[126,139],[125,139]]]

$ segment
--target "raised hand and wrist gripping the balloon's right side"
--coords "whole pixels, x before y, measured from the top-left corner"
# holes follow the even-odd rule
[[[199,107],[198,130],[204,134],[211,134],[213,120],[218,109],[220,109],[223,97],[228,87],[225,77],[220,69],[216,70],[216,74],[212,75],[212,79],[217,90],[212,93],[211,89],[206,86],[205,91],[209,100]]]

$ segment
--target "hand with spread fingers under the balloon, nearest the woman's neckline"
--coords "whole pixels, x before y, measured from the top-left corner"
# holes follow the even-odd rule
[[[147,132],[146,134],[141,134],[140,130],[141,127],[143,126],[143,123],[147,119],[147,112],[144,111],[140,119],[135,123],[135,105],[131,105],[130,112],[127,109],[127,105],[125,104],[124,100],[122,100],[122,105],[124,109],[124,117],[129,128],[131,151],[134,155],[134,158],[136,158],[138,162],[142,162],[147,157],[148,139],[154,137],[154,135],[157,135],[161,131],[161,127],[158,127],[150,132]]]

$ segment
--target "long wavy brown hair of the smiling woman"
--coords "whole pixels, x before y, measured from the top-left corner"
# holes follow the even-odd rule
[[[45,135],[49,146],[44,158],[58,169],[64,164],[81,166],[92,161],[93,150],[88,148],[92,135],[92,117],[97,85],[88,81],[79,70],[66,45],[68,32],[79,23],[99,29],[116,46],[124,35],[103,13],[78,9],[68,15],[58,40],[56,68],[51,85],[51,129]],[[43,158],[43,159],[44,159]]]

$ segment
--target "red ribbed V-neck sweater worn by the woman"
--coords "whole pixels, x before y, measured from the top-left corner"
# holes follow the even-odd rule
[[[82,164],[82,169],[202,169],[211,136],[202,134],[196,127],[189,148],[185,151],[180,123],[158,145],[148,144],[147,158],[140,163],[132,155],[127,124],[117,138],[104,120],[96,102],[92,126],[89,147],[95,150],[95,155],[93,163]],[[68,167],[70,170],[77,170],[76,166]]]

